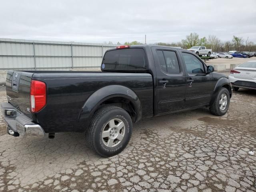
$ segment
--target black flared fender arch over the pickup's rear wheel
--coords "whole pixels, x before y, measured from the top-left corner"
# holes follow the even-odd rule
[[[138,96],[130,88],[121,85],[109,85],[94,92],[82,106],[79,119],[91,118],[102,102],[114,97],[123,97],[132,102],[136,110],[136,121],[141,119],[142,109]]]

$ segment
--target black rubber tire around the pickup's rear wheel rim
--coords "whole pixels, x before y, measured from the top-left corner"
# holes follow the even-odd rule
[[[108,147],[103,143],[102,131],[108,122],[118,118],[124,123],[124,136],[120,143]],[[126,110],[116,106],[105,106],[97,110],[86,131],[87,146],[102,157],[110,157],[120,153],[127,146],[132,136],[132,119]]]

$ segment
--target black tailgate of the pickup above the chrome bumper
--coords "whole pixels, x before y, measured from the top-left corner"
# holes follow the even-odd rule
[[[8,71],[6,76],[6,95],[8,102],[31,117],[30,112],[30,82],[33,73]]]

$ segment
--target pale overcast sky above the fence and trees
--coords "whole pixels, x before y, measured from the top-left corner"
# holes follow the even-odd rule
[[[4,0],[0,38],[178,42],[190,32],[256,43],[256,0]]]

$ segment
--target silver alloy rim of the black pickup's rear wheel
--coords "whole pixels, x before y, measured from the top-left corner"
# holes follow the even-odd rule
[[[118,118],[111,119],[102,130],[102,142],[107,147],[115,147],[123,140],[124,122]]]

